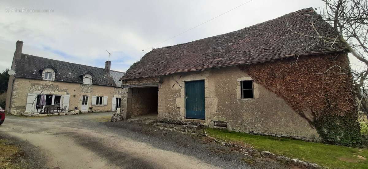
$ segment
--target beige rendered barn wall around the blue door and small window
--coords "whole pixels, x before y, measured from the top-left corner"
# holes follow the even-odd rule
[[[180,76],[178,83],[181,86],[175,84],[175,79]],[[159,117],[163,120],[191,121],[185,118],[185,81],[205,80],[203,123],[206,125],[213,121],[223,121],[240,132],[300,139],[319,137],[316,129],[300,117],[285,100],[256,82],[255,99],[241,99],[240,81],[253,79],[238,67],[175,74],[173,77],[164,77],[160,88],[163,108],[159,111]]]

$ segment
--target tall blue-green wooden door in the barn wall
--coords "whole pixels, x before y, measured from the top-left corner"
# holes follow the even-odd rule
[[[185,82],[185,117],[205,119],[205,81]]]

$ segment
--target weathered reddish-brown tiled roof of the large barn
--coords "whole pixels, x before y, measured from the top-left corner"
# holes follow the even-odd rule
[[[297,56],[301,51],[310,47],[309,45],[301,45],[301,43],[314,44],[316,40],[290,34],[291,31],[286,27],[285,21],[288,21],[293,30],[300,31],[301,27],[304,30],[312,30],[307,19],[311,18],[313,12],[312,8],[306,8],[234,32],[153,49],[139,62],[132,65],[120,80],[163,76]],[[316,13],[314,12],[314,14]],[[320,34],[326,33],[329,28],[328,25],[316,25]],[[320,41],[302,54],[311,55],[337,51],[329,45]],[[345,49],[338,43],[335,43],[334,47]]]

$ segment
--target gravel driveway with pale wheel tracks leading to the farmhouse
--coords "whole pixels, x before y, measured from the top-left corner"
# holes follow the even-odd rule
[[[286,168],[267,159],[250,162],[244,155],[195,134],[149,124],[108,122],[111,114],[8,115],[0,126],[0,137],[19,144],[29,167],[35,169]]]

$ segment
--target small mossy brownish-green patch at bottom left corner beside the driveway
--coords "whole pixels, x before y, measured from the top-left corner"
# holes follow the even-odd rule
[[[22,156],[23,153],[17,146],[7,140],[0,139],[0,168],[24,169],[18,165],[19,158]]]

